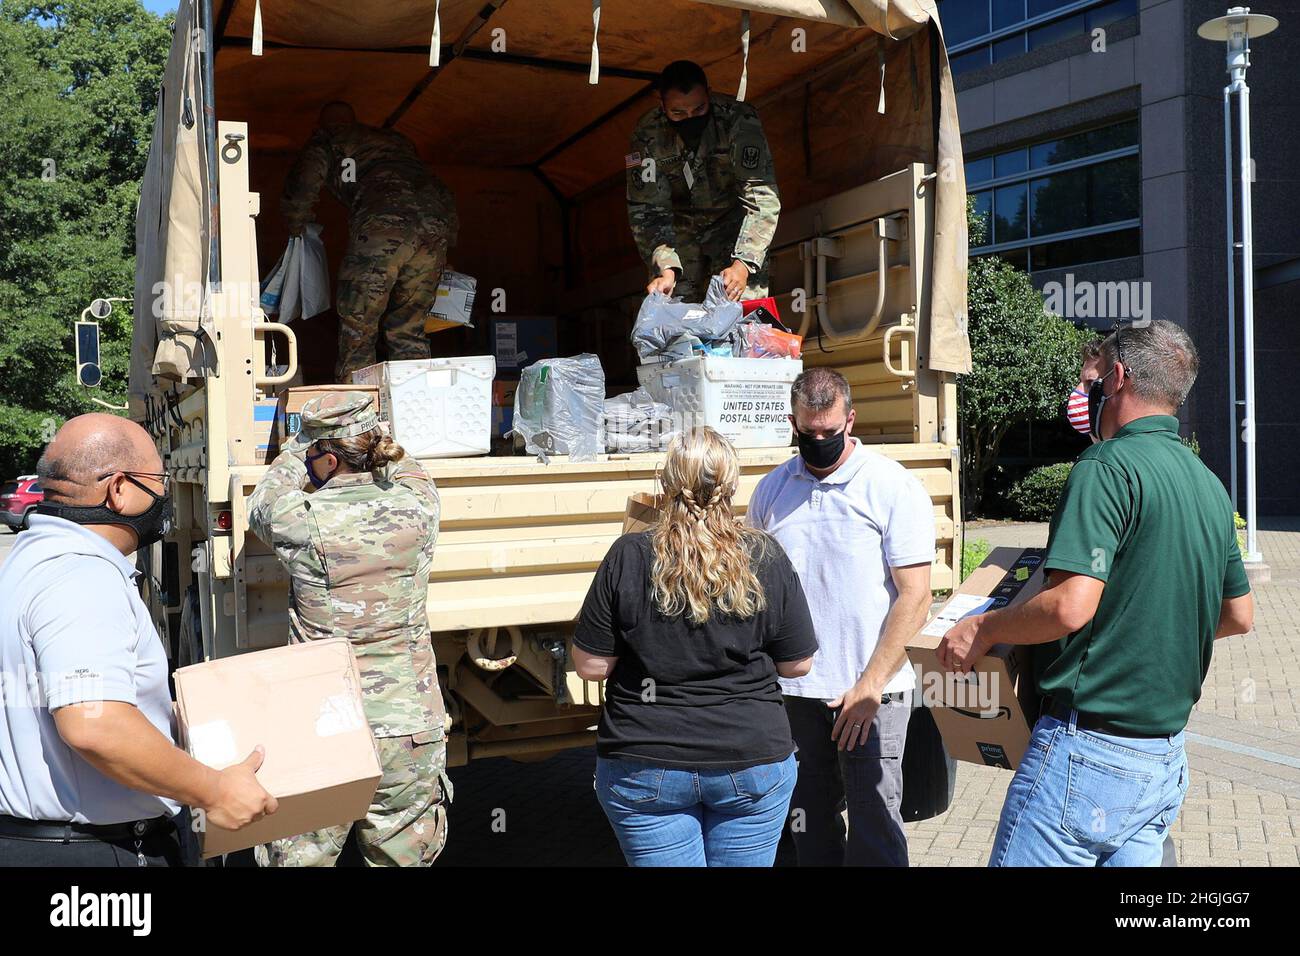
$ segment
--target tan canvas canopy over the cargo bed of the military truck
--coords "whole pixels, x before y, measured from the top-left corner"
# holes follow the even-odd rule
[[[178,38],[202,25],[199,12],[198,0],[182,0]],[[744,83],[745,99],[759,108],[785,209],[911,163],[935,170],[926,360],[940,372],[970,368],[965,176],[931,0],[662,0],[653,8],[641,0],[212,0],[211,16],[214,112],[250,121],[264,260],[282,247],[276,209],[289,164],[320,107],[339,99],[363,122],[407,135],[448,181],[462,202],[460,252],[471,261],[490,260],[510,239],[493,235],[502,222],[490,206],[467,215],[465,198],[526,183],[560,204],[563,222],[536,233],[515,224],[520,248],[497,255],[511,259],[514,273],[529,268],[521,258],[545,259],[556,245],[564,246],[569,294],[640,268],[623,195],[628,139],[656,103],[651,82],[663,65],[693,59],[718,91],[736,95]],[[207,117],[194,51],[194,42],[178,39],[168,65],[156,135],[177,143],[160,153],[176,172],[161,177],[161,196],[142,198],[138,242],[148,267],[139,286],[157,273],[192,287],[208,269],[199,148]],[[332,233],[337,242],[346,224],[326,221]],[[529,242],[541,251],[524,250]],[[536,264],[538,276],[547,268],[555,272],[554,263]],[[138,303],[156,299],[148,289],[136,293]],[[563,304],[562,295],[559,308],[554,299],[524,303],[552,312]],[[136,342],[139,352],[153,349],[152,365],[135,363],[133,395],[148,392],[142,376],[150,371],[176,380],[204,375],[202,308],[192,297],[162,315],[155,304],[155,341]]]

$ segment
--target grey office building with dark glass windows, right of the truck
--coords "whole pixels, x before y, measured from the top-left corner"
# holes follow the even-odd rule
[[[1150,315],[1201,354],[1180,410],[1225,484],[1227,390],[1225,0],[939,0],[979,219],[972,256],[1049,282],[1140,282]],[[1252,3],[1282,29],[1252,44],[1256,436],[1261,514],[1300,515],[1300,0]],[[1235,155],[1235,147],[1234,147]],[[1131,317],[1131,316],[1119,316]],[[1109,329],[1112,316],[1089,320]],[[1240,321],[1240,316],[1239,316]],[[1240,347],[1240,326],[1238,343]],[[1238,369],[1242,380],[1242,368]],[[1240,394],[1239,394],[1240,398]]]

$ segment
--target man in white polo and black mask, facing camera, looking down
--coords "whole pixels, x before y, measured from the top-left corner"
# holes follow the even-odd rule
[[[803,372],[790,408],[800,455],[758,484],[749,522],[789,554],[820,645],[807,676],[781,680],[798,747],[794,847],[801,866],[906,866],[902,750],[915,676],[904,643],[930,610],[933,507],[906,468],[852,437],[842,375]]]

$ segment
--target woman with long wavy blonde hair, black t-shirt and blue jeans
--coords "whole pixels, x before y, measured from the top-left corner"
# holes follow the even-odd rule
[[[679,434],[663,510],[595,575],[573,661],[604,680],[597,796],[632,866],[771,866],[794,790],[777,676],[816,652],[781,546],[732,511],[740,462],[711,428]]]

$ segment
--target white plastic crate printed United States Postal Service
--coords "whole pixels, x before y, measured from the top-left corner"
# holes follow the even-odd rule
[[[701,355],[641,365],[637,378],[676,425],[710,425],[736,447],[760,449],[790,444],[790,385],[802,371],[797,359]]]

